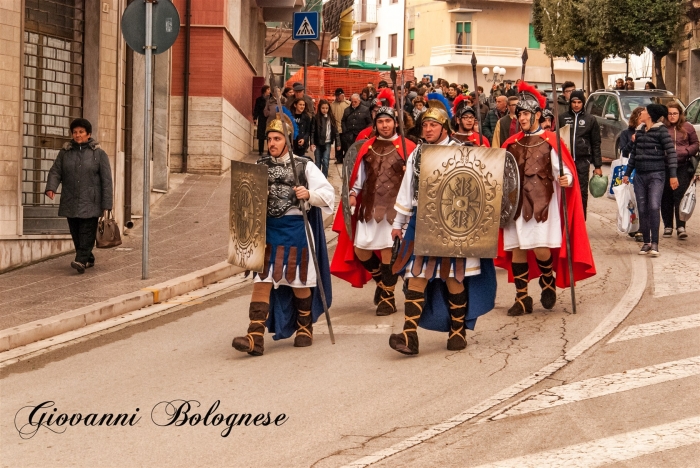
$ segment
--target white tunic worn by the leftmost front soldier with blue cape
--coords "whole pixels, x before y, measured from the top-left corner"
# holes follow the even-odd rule
[[[277,161],[289,162],[289,155],[285,154]],[[305,202],[307,210],[311,206],[317,206],[321,208],[321,212],[324,214],[333,214],[333,207],[335,204],[335,190],[333,186],[325,178],[321,170],[313,162],[306,164],[306,180],[308,181],[309,189],[309,199]],[[284,216],[301,216],[301,210],[299,208],[292,208],[287,211]],[[316,239],[314,239],[314,244]],[[311,246],[309,246],[309,249]],[[265,279],[260,279],[259,275],[255,276],[253,280],[255,283],[272,283],[276,288],[280,286],[291,286],[292,288],[313,288],[316,286],[316,267],[314,266],[313,255],[309,252],[309,266],[306,275],[306,284],[301,282],[299,278],[299,271],[297,269],[296,278],[291,283],[287,281],[287,267],[285,266],[282,272],[282,279],[279,282],[275,282],[272,279],[272,269],[274,265],[270,265],[267,277]]]

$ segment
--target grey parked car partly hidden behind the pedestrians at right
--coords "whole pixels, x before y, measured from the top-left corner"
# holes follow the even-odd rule
[[[670,104],[683,102],[665,90],[616,91],[599,90],[588,97],[586,112],[593,115],[600,126],[600,153],[604,158],[619,157],[620,133],[629,126],[629,118],[637,107],[648,104]]]

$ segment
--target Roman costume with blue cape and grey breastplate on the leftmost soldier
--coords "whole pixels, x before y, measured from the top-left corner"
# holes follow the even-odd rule
[[[287,111],[287,109],[284,109]],[[286,120],[290,137],[296,137],[293,119],[288,115],[271,116],[266,135],[284,134],[282,119]],[[310,159],[295,156],[290,160],[285,147],[278,157],[265,156],[257,164],[267,166],[268,198],[265,230],[265,266],[255,273],[253,298],[250,303],[250,325],[245,336],[234,338],[233,347],[254,356],[263,354],[265,327],[274,333],[273,339],[289,338],[296,333],[294,346],[310,346],[313,323],[323,313],[318,281],[323,281],[328,305],[331,304],[331,282],[322,213],[332,213],[335,200],[333,186]],[[301,202],[294,191],[294,173],[300,185],[309,191],[309,199]],[[314,246],[321,277],[316,275],[313,256],[309,252],[301,210],[308,211]],[[256,296],[256,285],[270,283],[269,297]],[[311,294],[298,297],[295,291],[309,288]]]

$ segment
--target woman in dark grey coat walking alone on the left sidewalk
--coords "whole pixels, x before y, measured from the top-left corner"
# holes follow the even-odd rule
[[[53,200],[62,184],[58,215],[68,218],[75,246],[75,260],[70,266],[82,274],[95,264],[92,248],[97,220],[104,210],[112,209],[112,171],[107,153],[90,137],[90,122],[76,119],[70,130],[73,139],[58,152],[44,193]]]

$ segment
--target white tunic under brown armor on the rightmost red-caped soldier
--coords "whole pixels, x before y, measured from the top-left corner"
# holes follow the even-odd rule
[[[537,135],[541,132],[535,132],[529,135]],[[522,216],[519,216],[515,221],[509,222],[503,228],[503,248],[505,250],[522,249],[530,250],[536,247],[561,247],[561,214],[559,212],[559,203],[561,197],[561,186],[559,185],[559,157],[557,152],[552,149],[552,177],[554,177],[554,194],[549,202],[549,215],[547,221],[538,223],[535,218],[530,218],[525,221]],[[571,184],[574,180],[571,171],[564,165],[564,174]],[[522,196],[522,195],[521,195]]]

